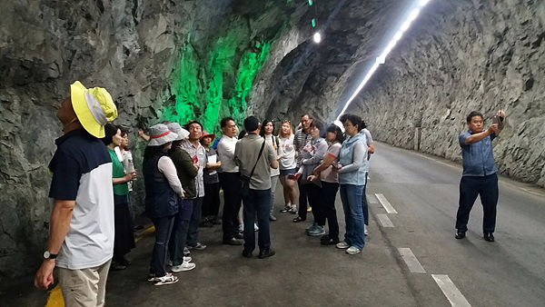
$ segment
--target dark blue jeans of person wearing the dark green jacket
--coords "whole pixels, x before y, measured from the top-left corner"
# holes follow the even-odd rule
[[[173,265],[180,265],[183,262],[183,248],[187,242],[187,232],[192,213],[193,199],[179,199],[178,213],[174,217],[173,232],[168,244],[168,251]]]

